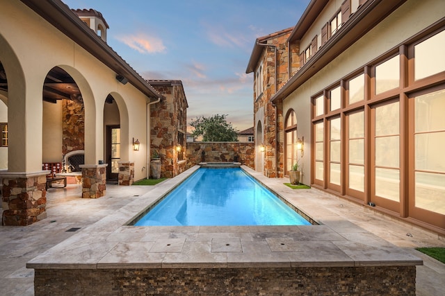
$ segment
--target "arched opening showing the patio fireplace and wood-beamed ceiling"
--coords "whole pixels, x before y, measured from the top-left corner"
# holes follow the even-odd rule
[[[42,162],[61,163],[60,173],[80,173],[79,166],[85,164],[85,108],[78,85],[67,71],[54,67],[44,79],[42,99]]]

